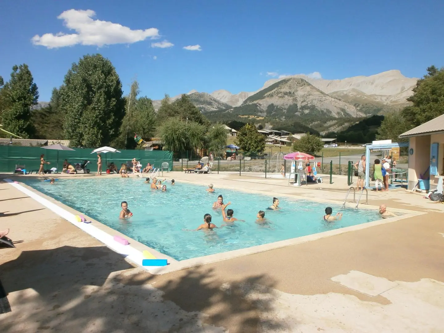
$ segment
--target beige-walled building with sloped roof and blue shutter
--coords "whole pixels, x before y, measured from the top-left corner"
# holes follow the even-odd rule
[[[422,174],[430,178],[430,190],[444,178],[444,115],[428,121],[400,138],[408,138],[408,189],[412,190]]]

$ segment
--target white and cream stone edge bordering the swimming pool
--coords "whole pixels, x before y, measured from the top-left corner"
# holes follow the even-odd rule
[[[159,267],[158,266],[143,266],[142,260],[144,258],[143,258],[142,251],[135,249],[131,245],[124,246],[122,244],[119,244],[118,242],[116,242],[113,239],[112,235],[106,233],[103,230],[100,230],[99,228],[94,226],[93,223],[77,222],[77,220],[75,218],[75,214],[72,214],[71,212],[68,212],[64,208],[57,206],[55,203],[50,202],[48,199],[46,199],[42,196],[45,194],[42,194],[40,191],[38,191],[34,188],[32,188],[32,190],[30,190],[30,189],[20,185],[20,183],[16,183],[16,182],[12,181],[11,179],[6,178],[6,179],[4,179],[4,182],[7,182],[9,185],[15,187],[17,190],[20,190],[24,194],[27,194],[30,198],[33,198],[34,200],[39,202],[41,205],[45,206],[46,208],[48,208],[49,210],[51,210],[55,214],[59,215],[61,218],[64,218],[68,222],[71,222],[71,224],[77,226],[78,228],[80,228],[81,230],[83,230],[84,232],[86,232],[87,234],[92,236],[93,238],[96,238],[97,240],[99,240],[100,242],[105,244],[111,250],[115,251],[118,254],[121,254],[122,256],[127,258],[129,261],[135,263],[137,266],[140,266],[144,270],[147,270],[151,274],[171,273],[171,272],[174,272],[177,270],[183,270],[183,269],[194,267],[194,266],[201,266],[201,265],[206,265],[206,264],[210,264],[210,263],[214,263],[214,262],[220,262],[220,261],[227,260],[227,259],[243,257],[243,256],[250,255],[250,254],[256,254],[256,253],[265,252],[265,251],[269,251],[269,250],[275,250],[275,249],[279,249],[282,247],[287,247],[287,246],[292,246],[292,245],[301,244],[301,243],[305,243],[305,242],[310,242],[313,240],[327,238],[327,237],[331,237],[331,236],[338,235],[338,234],[344,234],[344,233],[351,232],[351,231],[367,229],[372,226],[379,226],[382,224],[387,224],[387,223],[403,220],[405,218],[410,218],[410,217],[426,214],[426,212],[394,209],[393,211],[399,211],[399,212],[404,212],[404,213],[408,212],[408,214],[396,216],[393,218],[386,218],[386,219],[382,219],[382,220],[361,223],[361,224],[357,224],[354,226],[348,226],[348,227],[344,227],[344,228],[328,230],[328,231],[324,231],[324,232],[317,233],[317,234],[310,234],[310,235],[301,236],[301,237],[297,237],[297,238],[285,239],[282,241],[272,242],[272,243],[268,243],[268,244],[251,246],[251,247],[247,247],[244,249],[232,250],[232,251],[222,252],[222,253],[218,253],[218,254],[210,254],[207,256],[198,257],[198,258],[191,258],[191,259],[186,259],[186,260],[182,260],[182,261],[177,261],[176,259],[171,258],[170,256],[167,256],[166,254],[162,254],[162,257],[166,258],[168,260],[167,266],[159,266]],[[253,190],[248,191],[248,192],[258,193],[257,191],[255,192]],[[40,195],[40,194],[42,194],[42,195]],[[312,201],[312,198],[303,198],[303,197],[298,197],[296,195],[289,195],[289,194],[286,196],[295,197],[296,199]],[[52,198],[52,197],[49,197],[49,198]],[[54,198],[52,198],[52,199],[56,202],[59,202]],[[318,199],[318,200],[313,200],[313,201],[322,202],[324,200]],[[325,200],[324,202],[326,202],[326,201],[328,202],[330,200]],[[63,204],[63,203],[60,202],[60,204]],[[369,206],[367,206],[367,207],[369,208]],[[69,207],[69,206],[67,206],[67,207]],[[72,209],[72,207],[71,207],[71,209]],[[75,211],[77,211],[77,210],[75,210]],[[81,215],[81,214],[82,214],[81,212],[78,212],[77,215]],[[103,225],[103,223],[101,223],[99,221],[95,221],[95,220],[93,220],[93,221]],[[105,225],[103,225],[103,226],[105,226]],[[110,230],[114,230],[110,227],[107,227],[107,228],[109,228]],[[116,233],[118,233],[118,231],[116,231]],[[132,239],[126,235],[123,235],[123,236],[129,240],[130,244],[131,244],[131,241],[137,242],[134,239]],[[139,242],[137,242],[137,243],[139,243]],[[159,253],[157,250],[151,249],[149,246],[143,245],[143,247],[145,247],[146,250],[149,250],[150,252]]]

